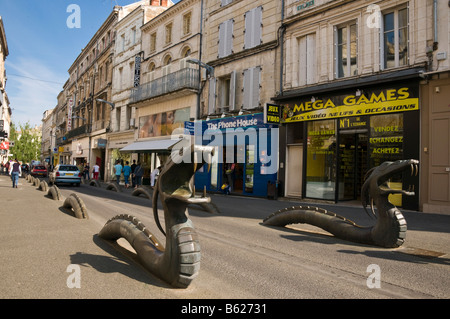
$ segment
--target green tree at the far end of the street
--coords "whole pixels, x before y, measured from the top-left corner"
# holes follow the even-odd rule
[[[11,123],[9,140],[14,142],[9,149],[13,158],[23,163],[41,158],[41,132],[32,128],[29,122],[18,127]]]

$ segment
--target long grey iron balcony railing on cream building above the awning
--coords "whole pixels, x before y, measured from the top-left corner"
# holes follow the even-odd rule
[[[198,70],[185,68],[156,80],[142,84],[131,90],[131,103],[154,98],[183,89],[198,90]]]

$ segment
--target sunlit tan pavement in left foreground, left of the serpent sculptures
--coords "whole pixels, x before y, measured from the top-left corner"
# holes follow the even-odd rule
[[[167,285],[96,236],[103,225],[45,195],[23,178],[12,188],[0,175],[0,299],[172,298]],[[73,265],[83,289],[74,287]]]

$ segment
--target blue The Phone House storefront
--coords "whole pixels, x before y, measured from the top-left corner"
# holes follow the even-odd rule
[[[276,196],[278,127],[265,124],[263,113],[186,122],[196,144],[213,146],[208,171],[195,175],[195,188],[209,192],[266,197]],[[195,134],[194,134],[195,131]]]

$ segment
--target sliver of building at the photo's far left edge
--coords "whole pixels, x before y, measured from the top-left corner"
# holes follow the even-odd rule
[[[9,140],[11,124],[11,108],[8,95],[6,94],[6,69],[5,60],[9,55],[8,43],[6,42],[5,27],[0,16],[0,163],[8,161]]]

